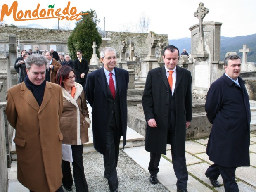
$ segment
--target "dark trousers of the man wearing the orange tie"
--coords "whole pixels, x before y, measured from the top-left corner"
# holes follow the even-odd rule
[[[178,156],[176,152],[176,137],[175,133],[168,132],[171,138],[171,156],[172,156],[172,163],[174,173],[177,178],[177,189],[187,189],[187,180],[188,180],[188,173],[187,173],[187,165],[186,165],[186,157],[185,155]],[[161,154],[158,153],[150,153],[150,161],[149,161],[149,173],[150,175],[157,175],[159,172],[159,162],[161,159]]]

